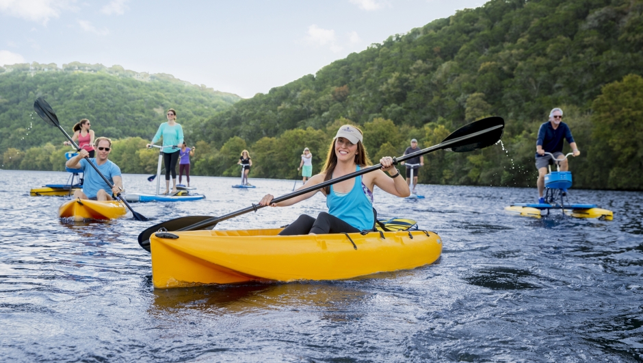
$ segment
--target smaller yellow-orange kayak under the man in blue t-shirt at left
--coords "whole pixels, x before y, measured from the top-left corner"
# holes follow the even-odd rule
[[[83,219],[114,219],[127,214],[127,209],[120,201],[90,201],[88,199],[73,199],[58,208],[60,218]]]

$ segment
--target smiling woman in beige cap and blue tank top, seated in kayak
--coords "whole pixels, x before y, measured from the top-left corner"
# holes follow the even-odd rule
[[[361,130],[357,127],[351,125],[340,127],[328,149],[324,170],[311,177],[306,183],[306,187],[354,173],[371,165],[363,145],[362,135]],[[343,232],[356,233],[363,230],[372,230],[375,225],[372,190],[375,186],[397,197],[408,197],[410,195],[408,185],[402,177],[399,177],[399,171],[393,165],[393,158],[385,156],[380,159],[380,163],[382,164],[382,170],[347,179],[321,189],[321,193],[326,196],[328,213],[321,212],[317,218],[302,214],[279,234],[281,236],[292,236]],[[384,172],[389,173],[391,177],[384,174]],[[302,188],[304,187],[302,186]],[[272,203],[274,197],[268,194],[259,203],[272,207],[285,207],[304,199],[309,199],[319,191],[313,190],[279,203]]]

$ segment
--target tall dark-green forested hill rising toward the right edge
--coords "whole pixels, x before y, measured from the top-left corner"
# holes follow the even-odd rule
[[[640,0],[489,1],[391,36],[316,75],[240,101],[202,123],[196,134],[216,148],[229,140],[222,150],[226,153],[247,145],[256,158],[271,165],[263,169],[256,160],[255,175],[292,177],[299,147],[317,141],[311,139],[312,132],[303,133],[303,140],[283,138],[292,134],[288,130],[311,127],[328,137],[334,132],[328,125],[344,117],[376,135],[374,142],[367,141],[375,156],[402,153],[412,137],[426,147],[464,123],[498,115],[508,125],[505,151],[497,147],[469,155],[436,153],[428,157],[421,181],[534,186],[538,126],[547,121],[551,108],[562,107],[582,152],[571,163],[575,185],[640,190],[643,178],[618,177],[620,173],[612,173],[616,165],[607,160],[625,152],[625,164],[618,170],[642,170],[643,155],[633,151],[643,149],[642,139],[627,138],[634,142],[629,148],[620,145],[625,138],[606,142],[607,136],[596,127],[603,120],[592,102],[607,84],[613,86],[609,92],[616,93],[604,99],[619,99],[620,92],[631,88],[633,95],[624,96],[631,102],[643,94],[641,88],[636,90],[640,77],[623,80],[643,74],[642,11]],[[634,108],[628,110],[635,113]],[[640,112],[627,117],[632,132],[643,127]],[[621,120],[613,122],[621,125]],[[292,155],[284,154],[287,140],[297,143]],[[319,156],[319,171],[324,148],[313,153]],[[279,167],[274,165],[276,155],[287,159]],[[198,170],[221,174],[226,167],[209,164]]]

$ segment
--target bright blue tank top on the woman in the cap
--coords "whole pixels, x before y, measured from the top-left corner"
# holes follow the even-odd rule
[[[357,166],[360,170],[360,166]],[[328,214],[336,216],[342,221],[363,231],[372,229],[375,224],[373,205],[362,188],[362,176],[355,178],[353,188],[345,195],[336,195],[330,186],[330,193],[326,196]]]

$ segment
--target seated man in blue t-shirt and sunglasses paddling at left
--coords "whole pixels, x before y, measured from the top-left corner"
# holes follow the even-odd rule
[[[111,140],[109,138],[97,138],[94,146],[96,147],[96,158],[90,158],[90,161],[98,166],[101,173],[105,175],[114,188],[109,188],[101,175],[96,173],[85,159],[90,153],[86,149],[81,149],[78,155],[67,160],[65,164],[68,168],[82,169],[85,174],[83,190],[77,189],[74,192],[74,198],[91,199],[92,201],[114,200],[111,195],[118,195],[122,192],[123,181],[122,177],[120,177],[120,168],[110,160],[107,160],[111,151]]]

